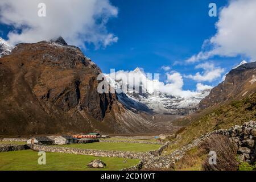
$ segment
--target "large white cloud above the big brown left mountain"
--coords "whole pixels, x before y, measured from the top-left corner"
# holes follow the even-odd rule
[[[38,16],[38,4],[46,4],[46,17]],[[106,47],[118,38],[106,30],[106,23],[118,9],[109,0],[1,0],[0,22],[13,26],[9,42],[39,42],[63,36],[69,44],[84,47],[92,43]]]

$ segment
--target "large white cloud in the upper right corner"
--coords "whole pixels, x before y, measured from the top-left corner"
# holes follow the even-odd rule
[[[216,55],[228,57],[245,55],[255,60],[255,10],[255,0],[230,0],[229,5],[220,11],[219,20],[216,23],[216,35],[205,40],[202,51],[186,60],[187,63],[206,60]],[[205,46],[210,49],[205,51]]]

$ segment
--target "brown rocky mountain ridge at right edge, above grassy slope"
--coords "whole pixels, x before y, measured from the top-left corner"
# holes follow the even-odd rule
[[[232,69],[225,81],[214,87],[209,96],[199,104],[200,109],[224,104],[226,101],[241,100],[256,92],[256,62],[246,63]]]

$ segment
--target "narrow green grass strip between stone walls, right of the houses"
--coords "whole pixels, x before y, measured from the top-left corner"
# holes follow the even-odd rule
[[[151,150],[158,150],[161,146],[162,145],[160,144],[95,142],[95,143],[86,143],[86,144],[68,144],[68,145],[57,146],[57,147],[73,147],[73,148],[108,150],[108,151],[147,152]]]

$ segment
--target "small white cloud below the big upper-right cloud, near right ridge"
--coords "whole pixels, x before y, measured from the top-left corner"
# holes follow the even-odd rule
[[[203,72],[197,72],[196,75],[186,75],[186,78],[191,78],[197,82],[209,81],[212,82],[221,77],[224,72],[223,68],[215,67],[213,63],[203,63],[195,67],[196,69],[203,69]]]

